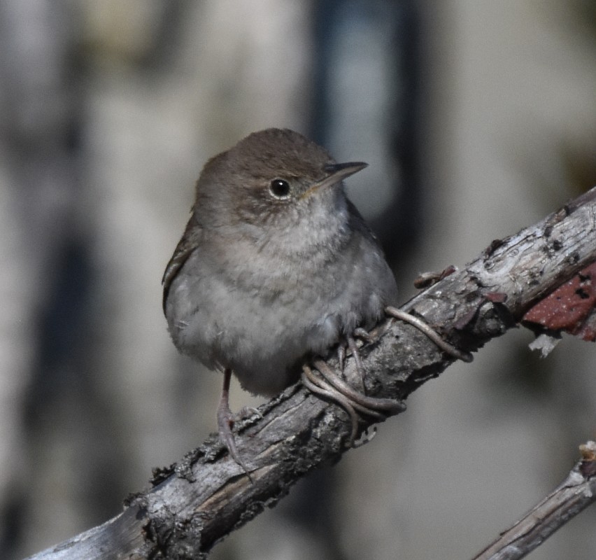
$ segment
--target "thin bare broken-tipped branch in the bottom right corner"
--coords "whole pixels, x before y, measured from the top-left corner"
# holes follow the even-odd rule
[[[472,560],[523,558],[596,501],[596,442],[589,441],[579,449],[581,461],[557,489]]]

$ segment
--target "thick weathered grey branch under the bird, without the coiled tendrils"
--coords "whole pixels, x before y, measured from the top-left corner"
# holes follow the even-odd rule
[[[540,223],[493,241],[467,267],[402,309],[424,318],[452,344],[476,351],[595,261],[593,188]],[[374,334],[374,342],[360,349],[368,395],[403,400],[453,362],[411,325],[386,321]],[[329,364],[336,367],[336,360]],[[353,373],[350,359],[346,377]],[[152,489],[130,497],[118,517],[31,559],[202,558],[215,542],[274,505],[300,477],[347,451],[348,414],[301,384],[260,412],[262,417],[236,425],[252,481],[212,436],[178,464],[154,472]],[[371,423],[361,419],[360,433]]]

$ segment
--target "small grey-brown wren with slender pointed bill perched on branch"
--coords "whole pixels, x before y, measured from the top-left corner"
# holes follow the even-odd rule
[[[247,391],[275,395],[306,360],[397,302],[383,251],[343,188],[366,166],[336,163],[301,134],[271,128],[211,158],[199,176],[164,274],[164,314],[180,352],[224,372],[218,427],[239,463],[231,373]]]

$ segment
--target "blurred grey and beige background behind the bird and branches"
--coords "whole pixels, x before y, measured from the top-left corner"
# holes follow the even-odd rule
[[[369,162],[348,192],[404,301],[596,184],[593,0],[3,0],[0,80],[7,560],[118,514],[215,430],[221,376],[178,356],[160,286],[211,155],[276,126]],[[594,346],[531,340],[450,367],[212,557],[477,552],[596,437]],[[595,522],[532,558],[592,559]]]

